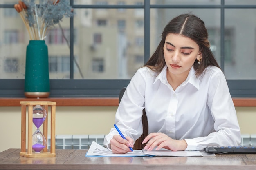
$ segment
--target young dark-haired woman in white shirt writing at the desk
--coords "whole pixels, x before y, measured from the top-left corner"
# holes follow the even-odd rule
[[[203,150],[240,145],[236,110],[216,62],[204,22],[195,15],[173,18],[148,62],[135,73],[121,99],[115,128],[104,144],[113,153],[130,152],[142,134],[145,108],[149,135],[144,149]]]

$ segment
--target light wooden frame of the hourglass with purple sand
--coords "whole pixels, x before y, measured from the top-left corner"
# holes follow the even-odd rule
[[[47,101],[21,101],[21,152],[20,156],[23,157],[55,157],[55,109],[56,102]],[[32,126],[33,126],[33,106],[44,106],[46,110],[46,118],[43,122],[43,135],[48,142],[48,106],[51,107],[51,146],[50,152],[47,150],[47,145],[40,153],[32,152]],[[27,130],[27,152],[26,152],[26,115],[28,107],[28,130]]]

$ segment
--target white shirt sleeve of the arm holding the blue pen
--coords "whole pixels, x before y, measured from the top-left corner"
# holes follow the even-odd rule
[[[142,70],[142,71],[141,71]],[[132,139],[138,139],[142,134],[142,110],[145,102],[145,72],[146,69],[139,69],[132,77],[129,85],[124,92],[115,115],[115,124],[117,124],[124,136]],[[110,140],[113,135],[119,133],[115,128],[104,138],[104,145],[111,150]]]

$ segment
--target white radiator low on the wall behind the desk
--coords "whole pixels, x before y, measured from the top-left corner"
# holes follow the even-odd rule
[[[51,144],[48,136],[48,149]],[[56,135],[56,149],[89,149],[92,141],[103,146],[105,135]],[[256,146],[256,134],[242,134],[241,146]]]

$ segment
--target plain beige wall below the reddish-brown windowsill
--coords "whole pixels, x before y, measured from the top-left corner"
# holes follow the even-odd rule
[[[57,107],[56,135],[107,134],[117,107]],[[20,107],[0,107],[0,152],[20,148]],[[236,107],[241,133],[256,134],[256,107]],[[34,130],[33,130],[34,132]]]

